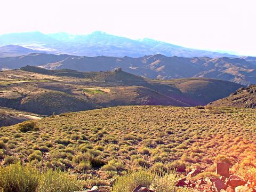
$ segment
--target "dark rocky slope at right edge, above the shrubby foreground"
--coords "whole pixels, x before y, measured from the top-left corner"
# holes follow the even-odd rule
[[[256,108],[256,85],[242,87],[228,97],[211,102],[210,106]]]

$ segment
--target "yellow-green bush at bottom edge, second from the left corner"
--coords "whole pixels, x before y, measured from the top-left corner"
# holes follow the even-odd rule
[[[42,174],[38,192],[70,192],[83,189],[81,181],[66,172],[48,170]]]

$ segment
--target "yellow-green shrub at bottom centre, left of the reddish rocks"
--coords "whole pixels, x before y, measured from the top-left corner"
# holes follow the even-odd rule
[[[138,171],[124,175],[116,180],[113,192],[130,192],[138,185],[149,187],[153,181],[153,174],[146,171]]]

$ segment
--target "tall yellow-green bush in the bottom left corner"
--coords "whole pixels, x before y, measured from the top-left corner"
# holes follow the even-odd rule
[[[34,192],[39,184],[39,173],[20,163],[0,167],[0,188],[3,192]]]

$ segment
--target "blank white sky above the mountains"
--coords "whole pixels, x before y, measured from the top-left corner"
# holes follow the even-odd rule
[[[153,38],[194,49],[256,56],[255,0],[1,0],[0,34]]]

